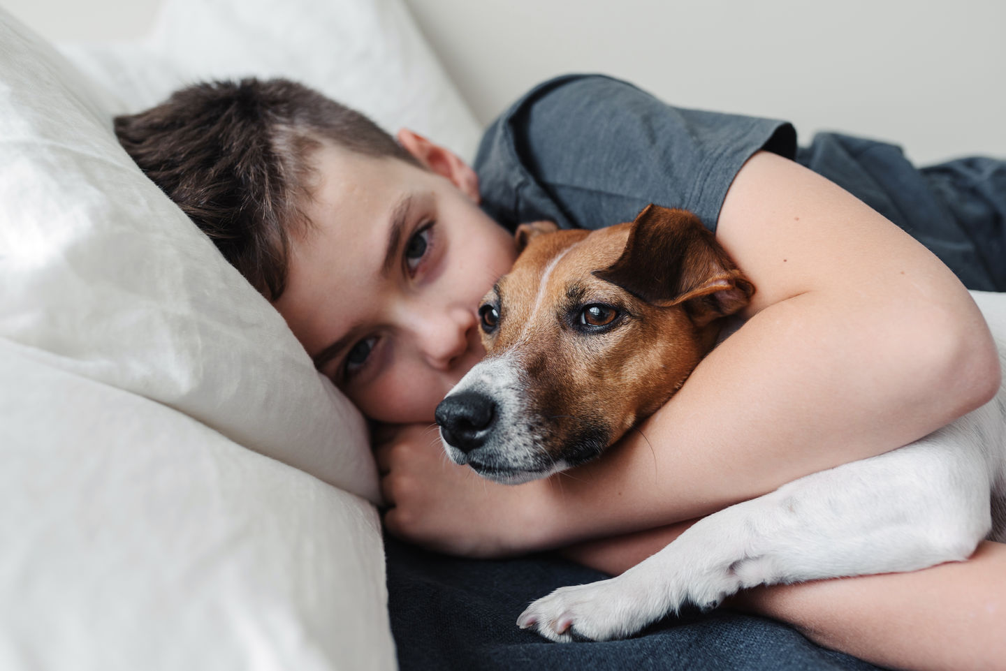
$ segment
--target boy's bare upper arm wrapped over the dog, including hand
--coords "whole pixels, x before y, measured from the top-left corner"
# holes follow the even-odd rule
[[[555,547],[690,519],[905,445],[988,400],[999,363],[954,275],[847,192],[781,157],[740,170],[717,239],[758,292],[745,325],[601,459],[507,488],[379,455],[388,526],[467,554]]]

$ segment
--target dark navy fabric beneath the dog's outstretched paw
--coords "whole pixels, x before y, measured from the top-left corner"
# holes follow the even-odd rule
[[[876,669],[821,648],[795,630],[726,610],[667,618],[642,635],[605,643],[551,643],[517,616],[552,590],[606,577],[548,555],[459,559],[393,538],[388,610],[401,671],[861,671]]]

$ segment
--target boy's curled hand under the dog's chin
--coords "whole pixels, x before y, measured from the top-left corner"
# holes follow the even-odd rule
[[[436,425],[378,427],[374,456],[391,533],[473,557],[517,554],[546,542],[546,481],[511,486],[480,478],[448,458]]]

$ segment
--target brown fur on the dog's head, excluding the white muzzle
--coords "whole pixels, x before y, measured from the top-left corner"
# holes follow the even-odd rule
[[[754,289],[698,218],[650,205],[609,228],[518,229],[513,270],[485,303],[489,356],[520,358],[528,407],[547,425],[539,444],[570,465],[600,454],[663,405],[713,347],[719,318]],[[586,306],[619,312],[611,328],[579,323]]]

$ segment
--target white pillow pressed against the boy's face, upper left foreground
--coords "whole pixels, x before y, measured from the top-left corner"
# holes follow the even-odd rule
[[[377,500],[358,412],[136,167],[72,68],[3,30],[0,337]]]

